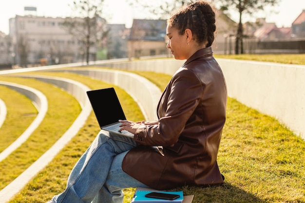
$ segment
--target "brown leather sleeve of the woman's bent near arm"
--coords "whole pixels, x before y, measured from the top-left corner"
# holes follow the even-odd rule
[[[203,87],[196,74],[181,68],[173,76],[166,91],[166,99],[159,106],[163,108],[165,114],[159,119],[158,125],[138,128],[133,138],[136,142],[142,145],[164,147],[176,143],[200,102]]]

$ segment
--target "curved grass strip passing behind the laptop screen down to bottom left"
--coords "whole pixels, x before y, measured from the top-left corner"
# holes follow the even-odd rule
[[[101,89],[113,85],[91,79],[86,76],[68,73],[39,73],[66,77],[77,80],[91,89]],[[122,108],[129,120],[143,120],[144,117],[136,102],[130,95],[118,87],[114,87],[121,101]],[[99,131],[94,113],[92,112],[86,124],[71,142],[61,150],[54,160],[40,171],[38,175],[30,181],[10,203],[43,203],[50,200],[55,194],[61,193],[66,186],[67,178],[72,167],[76,164],[79,157],[89,147]],[[124,192],[125,203],[130,202],[133,195],[133,188],[126,189]]]

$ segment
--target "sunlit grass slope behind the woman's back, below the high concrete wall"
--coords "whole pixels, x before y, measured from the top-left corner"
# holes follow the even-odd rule
[[[162,77],[139,74],[152,75],[152,82]],[[176,190],[194,194],[193,203],[305,202],[304,153],[304,140],[284,125],[228,98],[227,122],[218,154],[225,184]]]

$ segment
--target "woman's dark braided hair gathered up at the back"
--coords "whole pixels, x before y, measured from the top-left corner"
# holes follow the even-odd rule
[[[190,29],[197,43],[210,47],[216,30],[215,12],[209,3],[196,1],[172,15],[168,25],[177,29],[180,35]]]

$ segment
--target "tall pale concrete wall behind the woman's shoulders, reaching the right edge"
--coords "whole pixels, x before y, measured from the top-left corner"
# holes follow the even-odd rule
[[[305,66],[217,58],[228,86],[228,95],[277,118],[305,139]],[[153,59],[99,64],[123,70],[173,74],[184,63]]]

